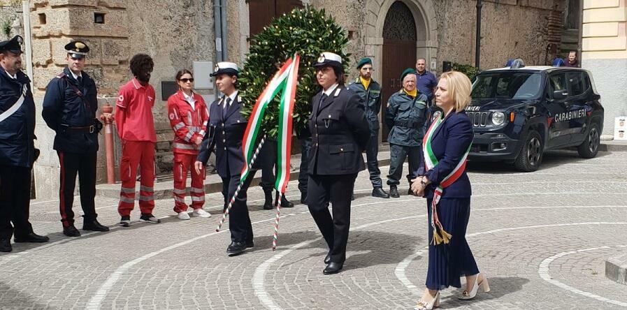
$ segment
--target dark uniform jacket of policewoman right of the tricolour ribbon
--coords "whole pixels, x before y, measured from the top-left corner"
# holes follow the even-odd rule
[[[349,175],[364,169],[361,152],[370,139],[370,128],[361,99],[343,85],[322,103],[320,91],[312,98],[309,129],[312,175]]]

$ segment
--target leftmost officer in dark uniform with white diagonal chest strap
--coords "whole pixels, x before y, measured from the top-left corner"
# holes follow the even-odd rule
[[[38,151],[31,80],[21,70],[22,42],[21,36],[0,42],[0,252],[13,251],[11,235],[15,242],[48,242],[28,220]]]

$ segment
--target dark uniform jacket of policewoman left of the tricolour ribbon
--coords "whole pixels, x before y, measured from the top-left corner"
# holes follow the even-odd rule
[[[215,149],[215,169],[220,177],[231,177],[242,172],[244,155],[242,139],[246,131],[247,119],[240,113],[240,96],[236,96],[226,117],[223,116],[226,96],[214,101],[209,108],[207,134],[198,154],[198,161],[207,164],[209,154]]]

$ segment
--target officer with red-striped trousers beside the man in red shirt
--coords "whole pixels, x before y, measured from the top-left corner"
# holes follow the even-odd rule
[[[56,132],[53,148],[59,155],[61,170],[59,210],[63,233],[78,237],[80,232],[74,227],[72,211],[77,172],[80,206],[85,213],[82,230],[109,230],[96,220],[98,214],[94,205],[96,152],[102,124],[96,119],[96,84],[82,71],[89,47],[80,40],[73,40],[65,45],[65,50],[68,66],[48,83],[41,114],[45,124]]]

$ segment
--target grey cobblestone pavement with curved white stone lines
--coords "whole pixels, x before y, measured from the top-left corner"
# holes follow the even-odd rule
[[[442,309],[627,307],[627,286],[604,274],[605,258],[627,251],[627,152],[551,153],[533,173],[478,163],[469,171],[467,237],[492,290],[461,302],[449,288]],[[296,182],[289,189],[296,202]],[[261,209],[259,187],[249,191],[255,248],[233,258],[229,232],[215,232],[217,193],[207,195],[210,219],[179,221],[173,200],[159,200],[163,223],[129,228],[115,226],[117,201],[99,198],[99,219],[113,229],[78,238],[62,235],[57,201],[36,201],[34,228],[51,241],[0,255],[0,309],[412,309],[426,275],[426,202],[370,191],[362,172],[348,258],[332,276],[322,274],[325,245],[303,205],[283,209],[271,251],[274,212]]]

